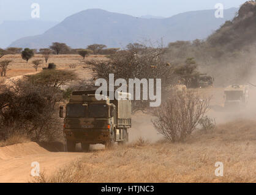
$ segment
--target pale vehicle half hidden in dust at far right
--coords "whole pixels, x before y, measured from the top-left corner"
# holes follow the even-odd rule
[[[249,86],[248,85],[230,85],[225,88],[224,108],[244,108],[248,103]]]

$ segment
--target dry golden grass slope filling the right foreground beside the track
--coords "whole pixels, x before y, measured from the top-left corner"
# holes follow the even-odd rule
[[[79,165],[61,172],[74,172],[68,182],[256,182],[255,126],[255,121],[235,121],[213,133],[195,132],[186,143],[141,144],[140,139],[85,154]],[[224,163],[224,177],[214,174],[217,161]],[[61,172],[47,181],[58,182]]]

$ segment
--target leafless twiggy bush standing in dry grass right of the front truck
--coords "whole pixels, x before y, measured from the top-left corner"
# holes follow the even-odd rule
[[[152,121],[159,133],[171,142],[184,141],[197,127],[209,107],[209,98],[201,99],[192,91],[173,92],[156,110]]]

